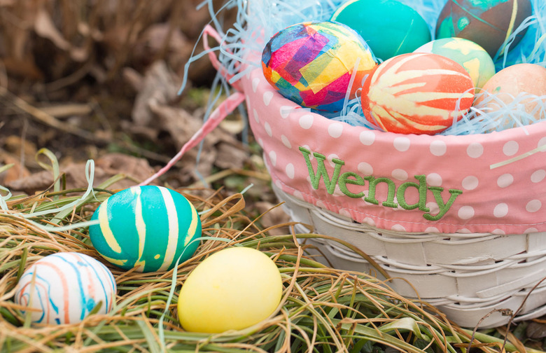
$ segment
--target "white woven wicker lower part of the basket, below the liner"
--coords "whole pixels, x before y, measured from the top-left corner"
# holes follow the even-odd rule
[[[516,320],[546,313],[546,281],[533,289],[545,276],[545,233],[401,233],[356,223],[275,186],[274,191],[294,221],[355,245],[393,277],[395,291],[426,300],[461,326],[506,324],[510,317],[491,311],[515,312],[522,303]],[[302,225],[296,230],[308,231]],[[339,243],[307,242],[316,245],[325,256],[321,260],[335,268],[373,272],[367,261]]]

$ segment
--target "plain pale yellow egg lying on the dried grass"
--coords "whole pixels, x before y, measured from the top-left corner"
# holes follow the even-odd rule
[[[274,313],[282,290],[279,269],[262,251],[223,249],[197,265],[182,284],[180,323],[192,332],[248,328]]]

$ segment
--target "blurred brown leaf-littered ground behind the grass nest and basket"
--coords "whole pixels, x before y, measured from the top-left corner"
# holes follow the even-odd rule
[[[192,53],[203,50],[209,11],[220,12],[225,29],[235,20],[223,0],[202,2],[0,0],[0,185],[27,194],[49,188],[52,173],[37,162],[47,158],[36,158],[41,148],[59,160],[66,188],[87,186],[88,159],[94,185],[127,175],[116,188],[163,167],[202,125],[216,75],[207,56],[191,63],[188,85],[177,92]],[[226,193],[253,185],[246,201],[254,214],[276,202],[239,113],[158,183]],[[277,213],[265,222],[284,219]]]

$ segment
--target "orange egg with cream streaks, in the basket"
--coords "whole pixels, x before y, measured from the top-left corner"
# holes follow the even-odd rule
[[[474,84],[461,66],[437,54],[407,53],[379,64],[366,78],[362,109],[381,130],[436,134],[472,106]]]

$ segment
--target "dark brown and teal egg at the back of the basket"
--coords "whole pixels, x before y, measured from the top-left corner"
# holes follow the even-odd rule
[[[494,58],[497,52],[503,53],[503,43],[531,15],[529,0],[448,0],[436,22],[436,39],[469,39]],[[525,31],[517,34],[510,48],[524,34]]]

